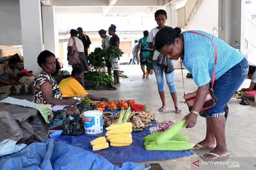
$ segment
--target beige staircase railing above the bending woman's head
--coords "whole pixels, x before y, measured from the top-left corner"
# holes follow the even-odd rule
[[[198,3],[198,0],[187,0],[184,7],[177,9],[177,26],[185,27],[193,11]]]

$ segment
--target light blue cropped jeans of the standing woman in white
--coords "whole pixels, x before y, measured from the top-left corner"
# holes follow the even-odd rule
[[[174,65],[173,60],[171,60]],[[153,70],[155,72],[155,78],[157,81],[157,87],[159,92],[165,91],[165,82],[164,82],[164,67],[157,66],[157,60],[152,60]],[[165,74],[166,83],[169,87],[170,93],[176,92],[176,86],[174,83],[174,71],[170,74]]]

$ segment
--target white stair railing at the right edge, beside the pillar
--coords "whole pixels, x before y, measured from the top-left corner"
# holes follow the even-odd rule
[[[249,18],[245,17],[245,40],[251,43],[256,48],[256,24],[253,23]]]

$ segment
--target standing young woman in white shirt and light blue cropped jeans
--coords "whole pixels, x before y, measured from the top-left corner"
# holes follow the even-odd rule
[[[166,19],[167,19],[167,13],[165,10],[160,9],[155,12],[155,21],[158,26],[153,28],[148,34],[147,42],[149,42],[150,49],[155,49],[155,35],[159,30],[165,27]],[[165,104],[164,67],[157,66],[157,57],[159,55],[160,55],[160,52],[155,50],[153,60],[152,60],[152,66],[155,72],[158,92],[163,104],[162,107],[158,109],[158,111],[164,112],[167,109]],[[174,63],[173,60],[171,60],[171,62]],[[177,102],[176,86],[174,82],[174,71],[172,73],[165,74],[165,78],[173,99],[175,112],[182,113],[182,110],[179,108],[178,102]]]

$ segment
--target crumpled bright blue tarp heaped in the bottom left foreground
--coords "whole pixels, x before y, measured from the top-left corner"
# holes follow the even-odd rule
[[[0,170],[143,170],[140,163],[126,162],[120,167],[81,148],[55,142],[33,143],[22,151],[1,157]]]

